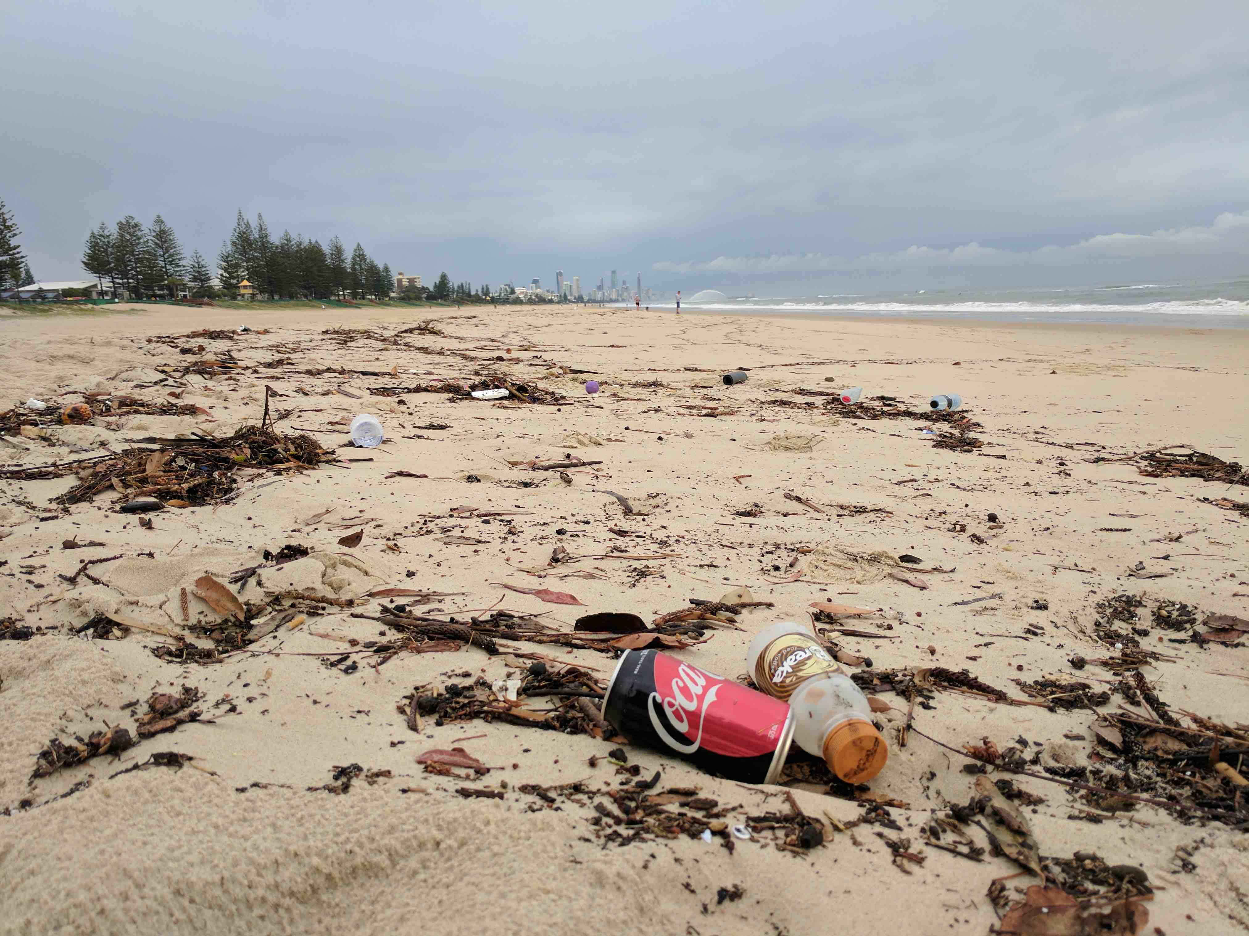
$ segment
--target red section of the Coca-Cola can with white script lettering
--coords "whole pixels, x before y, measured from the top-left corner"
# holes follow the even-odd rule
[[[666,654],[654,654],[651,728],[687,756],[708,750],[754,758],[776,750],[788,706]]]

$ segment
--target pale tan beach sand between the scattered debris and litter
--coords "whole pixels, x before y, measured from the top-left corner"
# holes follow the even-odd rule
[[[343,327],[392,334],[431,314],[442,319],[448,337],[410,336],[403,348],[321,333]],[[149,341],[244,322],[266,333]],[[431,588],[463,593],[437,605],[451,613],[498,603],[547,612],[548,623],[571,629],[583,613],[633,612],[649,620],[689,598],[717,599],[746,585],[776,607],[744,612],[742,631],[708,630],[711,639],[681,650],[682,658],[727,675],[743,673],[752,633],[774,620],[809,620],[811,602],[834,600],[882,608],[876,620],[893,624],[878,631],[884,639],[842,639],[847,650],[871,656],[876,669],[968,668],[1015,698],[1024,696],[1014,680],[1078,678],[1105,685],[1115,678],[1097,664],[1077,673],[1068,663],[1073,655],[1092,660],[1113,653],[1093,638],[1093,608],[1102,598],[1127,592],[1188,602],[1203,612],[1249,613],[1249,523],[1202,500],[1249,499],[1244,488],[1152,479],[1130,464],[1084,461],[1173,443],[1244,461],[1249,333],[1240,331],[1199,323],[1187,329],[1045,327],[552,307],[422,314],[136,306],[7,318],[0,334],[5,407],[29,397],[65,404],[85,392],[159,398],[172,389],[182,391],[179,402],[207,413],[52,427],[47,439],[14,439],[25,448],[0,443],[0,468],[120,451],[145,436],[226,436],[259,421],[265,384],[289,394],[272,401],[276,411],[295,409],[280,428],[341,446],[347,436],[340,421],[372,412],[388,439],[363,453],[338,449],[372,462],[245,473],[236,500],[162,510],[152,515],[154,529],[116,513],[111,493],[59,510],[49,502],[72,478],[0,480],[0,553],[7,560],[0,567],[0,618],[41,629],[26,641],[0,641],[0,809],[6,812],[0,816],[0,932],[798,934],[834,924],[928,934],[987,932],[997,925],[985,891],[993,879],[1020,869],[1002,856],[973,862],[923,842],[921,826],[965,804],[975,776],[963,771],[968,761],[916,734],[898,746],[906,701],[894,694],[882,695],[899,710],[881,716],[891,760],[871,792],[906,804],[887,806],[901,831],[862,824],[802,855],[777,849],[767,835],[739,841],[732,854],[719,837],[620,846],[601,839],[603,827],[593,822],[603,820],[588,804],[561,801],[550,809],[517,789],[576,780],[616,786],[621,778],[608,760],[588,763],[615,745],[480,720],[442,726],[426,720],[423,731],[413,733],[396,710],[413,686],[477,675],[493,680],[515,673],[515,659],[462,648],[401,654],[376,669],[363,658],[350,674],[323,665],[348,649],[348,639],[387,634],[376,622],[350,617],[376,613],[378,599],[330,608],[333,613],[295,630],[282,628],[215,665],[156,659],[151,649],[171,640],[151,630],[109,640],[74,634],[100,612],[181,634],[182,588],[205,573],[225,580],[234,569],[261,562],[262,550],[286,543],[307,545],[311,554],[262,570],[240,592],[244,600],[282,589],[362,599],[386,587]],[[201,343],[202,353],[179,353]],[[180,368],[226,349],[246,364],[282,357],[292,363],[155,383],[166,377],[159,367]],[[300,373],[327,364],[393,369],[395,377]],[[587,396],[585,374],[551,374],[553,366],[592,371],[602,392]],[[739,366],[752,368],[747,383],[723,387],[721,372]],[[368,387],[477,371],[536,382],[570,402],[367,394]],[[639,386],[653,381],[659,386]],[[911,406],[924,404],[933,392],[958,392],[983,423],[973,434],[985,446],[979,453],[934,449],[923,423],[841,418],[821,406],[823,398],[792,393],[848,386]],[[335,393],[336,387],[361,398]],[[778,399],[794,406],[769,402]],[[713,407],[734,412],[699,414]],[[417,428],[431,423],[450,428]],[[794,439],[799,448],[813,448],[794,451]],[[571,484],[550,477],[541,487],[515,485],[536,473],[508,459],[565,453],[603,464],[570,472]],[[428,477],[385,477],[397,469]],[[624,515],[606,490],[623,494],[647,515]],[[786,499],[786,492],[826,512]],[[465,505],[525,513],[485,519],[451,513]],[[1000,527],[989,524],[989,512]],[[370,519],[346,525],[360,518]],[[965,532],[950,532],[955,524],[965,524]],[[363,542],[338,545],[353,529],[363,529]],[[984,543],[970,540],[972,533]],[[437,539],[446,534],[486,542]],[[1175,534],[1182,538],[1154,542]],[[62,549],[62,540],[72,538],[104,545]],[[629,554],[678,555],[585,559],[547,578],[522,572],[545,565],[557,545],[593,555],[618,544]],[[839,550],[911,553],[923,568],[954,572],[923,575],[931,587],[919,590],[874,567],[847,564]],[[57,578],[87,559],[116,554],[124,558],[92,567],[102,584]],[[1154,558],[1162,555],[1170,558]],[[791,574],[796,557],[802,578],[776,584]],[[1172,574],[1128,577],[1138,562]],[[561,578],[571,573],[595,575]],[[586,607],[543,604],[496,583],[571,592]],[[997,593],[1002,598],[954,605]],[[1032,609],[1037,599],[1048,602],[1048,610]],[[215,615],[196,598],[190,613],[192,623]],[[1039,634],[1029,636],[1025,628]],[[1142,639],[1167,655],[1143,673],[1173,710],[1228,725],[1249,723],[1249,650],[1154,643],[1159,636],[1178,635],[1155,629]],[[540,649],[596,668],[601,678],[613,665],[592,651]],[[184,685],[200,690],[199,706],[211,724],[181,725],[119,758],[29,780],[49,739],[86,736],[106,725],[132,728],[151,693]],[[142,701],[122,708],[134,700]],[[1144,714],[1118,695],[1105,710],[1124,705]],[[1040,751],[1033,768],[1040,770],[1089,764],[1095,719],[1088,709],[1049,711],[939,691],[931,709],[916,709],[914,728],[955,749],[984,738],[1004,749],[1023,736]],[[471,740],[457,741],[465,738]],[[422,750],[452,746],[493,770],[466,781],[426,774],[415,761]],[[662,771],[661,789],[697,786],[702,796],[739,805],[731,811],[733,822],[788,809],[784,796],[774,795],[778,787],[743,787],[642,748],[627,750],[643,775]],[[181,770],[154,766],[117,775],[154,751],[194,760]],[[307,789],[327,784],[337,765],[348,764],[391,775],[373,782],[360,778],[342,795]],[[1052,782],[1014,781],[1045,799],[1027,814],[1043,855],[1095,851],[1110,865],[1135,865],[1149,875],[1155,889],[1149,927],[1249,930],[1243,832],[1185,825],[1145,805],[1112,812]],[[503,799],[465,800],[455,790],[466,785],[500,790]],[[866,809],[814,785],[798,785],[793,795],[804,811],[841,824]],[[987,847],[983,832],[969,830]],[[911,874],[904,874],[877,834],[909,839],[923,864],[908,864]],[[1189,865],[1177,859],[1178,847],[1192,852]],[[1018,899],[1035,880],[1012,879],[1007,892]],[[721,889],[734,885],[743,896],[718,904]]]

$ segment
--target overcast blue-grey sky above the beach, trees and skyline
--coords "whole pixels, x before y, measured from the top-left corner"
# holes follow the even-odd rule
[[[109,9],[104,9],[109,7]],[[235,211],[497,285],[1249,275],[1249,2],[9,0],[35,276]]]

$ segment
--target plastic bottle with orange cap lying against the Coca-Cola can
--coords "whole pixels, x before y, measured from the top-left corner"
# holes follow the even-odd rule
[[[788,700],[799,748],[823,758],[846,782],[881,773],[889,749],[872,724],[872,706],[811,630],[772,624],[754,635],[746,663],[761,691]]]

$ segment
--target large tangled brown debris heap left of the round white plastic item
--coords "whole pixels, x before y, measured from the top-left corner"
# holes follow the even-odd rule
[[[237,487],[236,468],[302,469],[333,461],[332,453],[322,449],[310,436],[284,436],[256,426],[244,427],[225,439],[196,436],[190,439],[137,441],[159,448],[130,448],[85,463],[15,469],[5,477],[24,473],[20,479],[49,478],[75,472],[77,484],[52,498],[62,504],[90,500],[112,489],[127,499],[151,497],[175,507],[195,507],[232,493]]]

